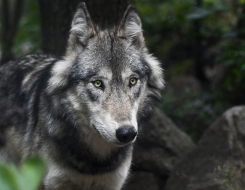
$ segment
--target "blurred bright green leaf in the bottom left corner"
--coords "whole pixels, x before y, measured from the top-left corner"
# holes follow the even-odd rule
[[[19,168],[0,162],[0,190],[36,190],[45,171],[44,161],[29,158]]]

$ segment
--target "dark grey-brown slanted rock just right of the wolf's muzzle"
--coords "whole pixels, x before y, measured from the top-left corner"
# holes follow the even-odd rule
[[[161,110],[155,109],[134,150],[137,169],[168,176],[172,168],[195,147],[191,138],[178,129]]]

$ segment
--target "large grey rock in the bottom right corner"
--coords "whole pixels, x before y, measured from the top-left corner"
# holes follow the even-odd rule
[[[167,190],[245,189],[245,106],[226,111],[172,171]]]

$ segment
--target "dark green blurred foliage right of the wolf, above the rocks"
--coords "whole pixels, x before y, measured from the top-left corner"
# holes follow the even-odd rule
[[[133,3],[141,13],[150,51],[164,62],[167,82],[179,75],[195,75],[197,22],[206,66],[225,68],[224,77],[212,89],[202,85],[201,90],[193,91],[174,84],[178,91],[167,89],[163,94],[163,110],[197,141],[222,112],[245,103],[245,39],[239,36],[245,28],[237,28],[241,4],[229,0],[202,0],[201,7],[188,0]]]

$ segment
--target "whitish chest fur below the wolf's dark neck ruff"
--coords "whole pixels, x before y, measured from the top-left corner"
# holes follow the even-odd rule
[[[132,151],[120,166],[100,175],[85,175],[74,170],[62,169],[56,164],[49,164],[44,179],[45,190],[120,190],[129,174]]]

